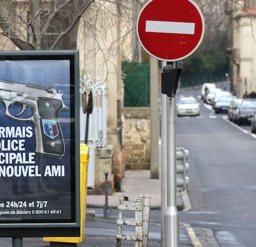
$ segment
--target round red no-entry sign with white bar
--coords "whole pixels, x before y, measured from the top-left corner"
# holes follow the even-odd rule
[[[188,57],[203,40],[204,20],[192,0],[149,0],[137,20],[143,49],[163,61]]]

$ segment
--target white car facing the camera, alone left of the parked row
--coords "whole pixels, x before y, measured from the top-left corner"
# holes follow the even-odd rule
[[[195,97],[181,97],[177,104],[178,116],[199,116],[200,107]]]

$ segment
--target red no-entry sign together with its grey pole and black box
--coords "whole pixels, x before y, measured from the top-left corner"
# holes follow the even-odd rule
[[[168,62],[183,60],[195,52],[203,40],[204,20],[203,13],[198,5],[192,0],[185,0],[182,1],[182,4],[179,4],[176,7],[177,9],[173,8],[173,5],[169,3],[169,0],[151,0],[143,5],[138,15],[136,30],[139,42],[149,55],[158,60],[165,60]],[[177,27],[175,32],[170,28],[166,34],[166,32],[162,31],[165,29],[162,21],[168,23],[168,26],[175,25],[173,15],[170,13],[176,13],[177,11],[179,11],[180,15],[175,21],[182,21],[182,26]],[[167,14],[162,15],[162,13]],[[188,14],[189,19],[187,19]],[[167,15],[170,16],[169,19],[159,19],[159,16]],[[156,19],[157,21],[155,21]],[[184,20],[188,21],[186,22]],[[184,27],[186,29],[186,34],[191,34],[186,36],[186,41],[184,41]],[[166,42],[166,35],[168,35],[168,42]],[[190,42],[191,38],[193,38],[193,42]],[[182,43],[180,42],[180,39],[183,39]],[[187,49],[186,54],[184,54],[184,44]],[[178,86],[178,79],[181,74],[181,68],[176,69],[175,67],[176,64],[174,62],[174,69],[172,69],[171,66],[168,67],[168,65],[166,65],[163,67],[162,71],[162,94],[168,96],[166,97],[162,95],[162,121],[164,117],[167,117],[167,130],[165,129],[165,123],[162,123],[161,125],[161,217],[164,215],[164,220],[161,218],[162,247],[179,246],[179,219],[176,206],[175,94]],[[167,101],[166,104],[164,103],[165,101]],[[163,109],[163,104],[165,104],[167,108],[166,111]],[[167,135],[166,138],[165,135]],[[165,143],[166,141],[167,144]],[[164,173],[165,171],[166,176]],[[165,181],[166,177],[167,185]],[[165,245],[163,245],[163,239],[165,239]]]

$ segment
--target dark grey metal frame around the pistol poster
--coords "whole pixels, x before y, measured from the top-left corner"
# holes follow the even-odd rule
[[[31,50],[31,51],[0,51],[0,61],[4,60],[70,60],[72,61],[72,81],[74,82],[74,119],[75,119],[75,179],[70,186],[75,188],[75,199],[71,200],[74,217],[66,222],[0,223],[0,237],[43,237],[43,236],[80,236],[80,144],[79,144],[79,51],[78,50]],[[72,182],[71,182],[72,183]],[[71,191],[72,194],[72,191]],[[39,221],[39,220],[38,220]],[[40,221],[39,221],[40,222]]]

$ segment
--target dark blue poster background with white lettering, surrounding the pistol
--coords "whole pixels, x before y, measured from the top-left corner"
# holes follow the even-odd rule
[[[62,100],[65,107],[57,110],[58,119],[51,119],[52,117],[47,114],[44,116],[45,130],[36,138],[38,132],[35,130],[34,122],[25,120],[35,114],[35,109],[30,105],[30,100],[34,99],[27,97],[25,105],[15,102],[14,98],[12,104],[8,106],[8,112],[19,120],[12,119],[6,114],[6,102],[10,101],[11,94],[18,93],[18,96],[22,96],[22,93],[11,93],[3,89],[1,80],[30,84],[26,87],[30,86],[31,90],[37,86],[54,88],[63,92]],[[72,221],[72,86],[74,85],[71,85],[70,60],[0,61],[0,222]],[[41,101],[44,112],[44,99]],[[23,110],[24,112],[19,115]],[[37,142],[44,142],[45,136],[49,136],[49,130],[51,132],[55,128],[51,145],[57,142],[57,138],[62,138],[60,131],[56,131],[58,121],[65,146],[63,156],[36,153]],[[6,162],[7,159],[12,161]]]

